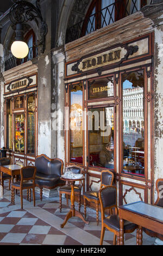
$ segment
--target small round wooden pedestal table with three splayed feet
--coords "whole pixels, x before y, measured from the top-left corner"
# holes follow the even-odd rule
[[[82,181],[82,180],[84,180],[84,177],[83,177],[83,178],[78,178],[78,179],[68,179],[68,178],[63,178],[63,177],[61,177],[61,180],[70,182],[70,185],[71,185],[71,208],[70,208],[70,211],[68,212],[68,214],[66,215],[64,222],[60,225],[60,227],[61,227],[61,228],[64,228],[64,225],[67,223],[67,221],[68,221],[71,217],[79,217],[79,218],[81,218],[86,224],[89,224],[89,222],[85,220],[85,218],[83,217],[83,215],[80,214],[80,212],[77,211],[77,210],[75,209],[75,207],[74,207],[74,199],[75,199],[75,195],[74,195],[74,184],[75,184],[76,181]]]

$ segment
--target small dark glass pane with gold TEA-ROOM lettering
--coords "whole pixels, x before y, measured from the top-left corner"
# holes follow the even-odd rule
[[[105,77],[89,82],[89,99],[114,96],[113,77]]]

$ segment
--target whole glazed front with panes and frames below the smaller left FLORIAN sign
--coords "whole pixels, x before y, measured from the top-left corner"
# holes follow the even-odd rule
[[[22,155],[35,155],[36,93],[8,97],[6,109],[7,150]]]

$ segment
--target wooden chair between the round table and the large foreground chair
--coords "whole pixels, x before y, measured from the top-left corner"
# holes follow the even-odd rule
[[[101,186],[102,187],[112,185],[114,179],[114,174],[110,170],[102,170],[101,172]],[[93,202],[96,204],[96,221],[98,225],[98,210],[99,210],[99,197],[98,197],[98,190],[96,191],[86,191],[83,194],[84,198],[84,216],[86,218],[86,200],[89,202]]]

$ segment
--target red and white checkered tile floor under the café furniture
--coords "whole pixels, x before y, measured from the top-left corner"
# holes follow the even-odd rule
[[[36,206],[33,200],[26,200],[23,194],[23,210],[20,196],[15,196],[15,205],[10,202],[11,191],[8,181],[4,182],[4,196],[0,199],[0,245],[99,245],[101,222],[96,225],[96,212],[87,208],[85,224],[77,217],[73,217],[64,228],[60,224],[65,219],[69,208],[66,200],[62,199],[62,212],[59,211],[59,198],[43,197],[40,201],[36,195]],[[77,207],[78,209],[78,207]],[[83,207],[81,212],[83,212]],[[99,217],[101,218],[101,217]],[[136,232],[125,235],[125,245],[136,244]],[[112,245],[113,234],[105,231],[103,245]],[[155,239],[143,233],[143,245],[153,245]]]

